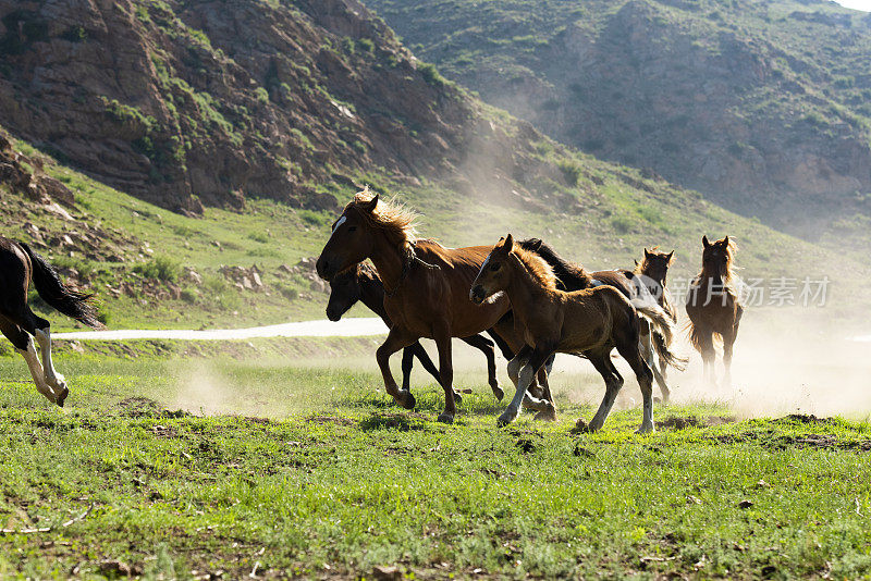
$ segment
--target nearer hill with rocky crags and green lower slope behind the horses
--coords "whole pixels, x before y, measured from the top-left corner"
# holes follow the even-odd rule
[[[849,301],[820,311],[827,319],[855,321],[851,309],[871,302],[861,248],[825,250],[657,172],[565,147],[445,81],[352,0],[87,3],[70,14],[90,18],[76,35],[49,18],[59,5],[0,3],[0,114],[10,120],[0,221],[5,235],[97,292],[109,326],[321,317],[327,288],[304,259],[319,254],[340,205],[367,184],[419,210],[421,234],[452,246],[539,236],[592,269],[627,268],[645,246],[661,246],[677,250],[674,275],[686,279],[701,235],[729,234],[748,276],[836,280],[833,293]],[[131,40],[122,47],[115,32]],[[118,61],[111,78],[90,70],[107,54]],[[253,84],[268,63],[296,76],[278,88]],[[315,79],[320,88],[307,84]],[[248,91],[259,104],[238,109]],[[196,115],[212,115],[211,124]],[[137,150],[172,143],[161,141],[165,127],[189,143],[184,159]],[[311,147],[287,149],[300,134]],[[348,146],[355,140],[365,147]],[[243,158],[250,163],[236,163]],[[285,161],[302,168],[277,177],[287,189],[253,185]]]

